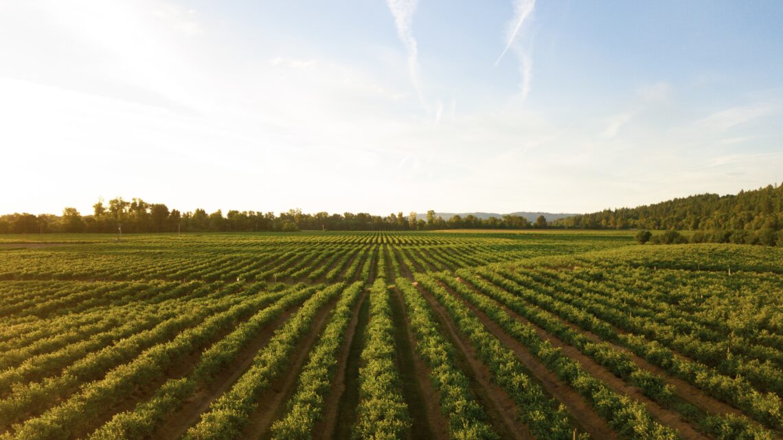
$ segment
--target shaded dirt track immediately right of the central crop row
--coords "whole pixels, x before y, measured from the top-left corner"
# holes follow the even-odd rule
[[[402,381],[402,395],[408,403],[413,419],[410,440],[448,440],[449,424],[440,412],[438,392],[432,388],[429,370],[419,355],[413,351],[416,340],[406,318],[402,294],[394,287],[391,290],[391,318],[395,325],[395,358]]]

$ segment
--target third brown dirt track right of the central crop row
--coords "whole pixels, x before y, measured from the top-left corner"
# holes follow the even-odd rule
[[[539,360],[535,359],[524,345],[507,334],[497,325],[497,323],[492,319],[489,319],[489,316],[486,316],[484,312],[472,305],[470,301],[462,298],[453,289],[445,284],[441,284],[441,287],[446,289],[454,298],[459,299],[467,308],[470,308],[474,316],[481,320],[482,324],[484,324],[485,328],[489,330],[491,334],[500,339],[508,348],[511,348],[518,361],[528,370],[531,379],[541,385],[543,390],[549,395],[566,406],[568,413],[571,414],[573,424],[576,425],[579,431],[586,431],[590,433],[593,438],[619,440],[617,433],[606,424],[605,420],[595,412],[590,404],[585,402],[585,399],[570,388],[568,384],[563,383],[563,381],[557,377],[557,374],[550,371],[543,362],[539,362]]]

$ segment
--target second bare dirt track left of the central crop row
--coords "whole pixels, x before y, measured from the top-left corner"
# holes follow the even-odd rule
[[[324,305],[313,319],[309,333],[298,342],[294,349],[293,358],[282,376],[276,377],[269,384],[262,395],[258,396],[258,406],[251,415],[250,424],[245,428],[242,438],[269,438],[269,427],[272,423],[286,413],[286,403],[296,391],[299,374],[310,355],[310,350],[316,344],[318,337],[327,326],[334,306],[338,298],[334,298]]]

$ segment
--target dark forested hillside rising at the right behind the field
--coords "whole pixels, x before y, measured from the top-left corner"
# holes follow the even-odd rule
[[[738,194],[697,194],[639,207],[561,218],[555,226],[581,229],[783,229],[783,186]]]

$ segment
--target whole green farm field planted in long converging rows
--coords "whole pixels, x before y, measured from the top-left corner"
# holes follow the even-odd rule
[[[0,440],[783,438],[783,248],[0,236]]]

